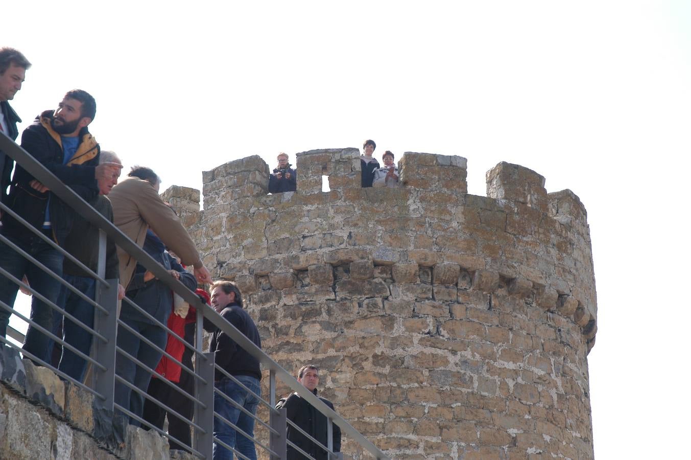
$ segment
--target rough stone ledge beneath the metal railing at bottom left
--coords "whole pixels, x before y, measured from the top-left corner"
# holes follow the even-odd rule
[[[0,459],[180,460],[157,432],[126,425],[91,392],[0,345]],[[57,454],[57,457],[55,457]]]

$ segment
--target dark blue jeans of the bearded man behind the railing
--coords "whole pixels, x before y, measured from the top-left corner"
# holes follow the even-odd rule
[[[62,259],[64,257],[57,249],[54,249],[35,235],[21,241],[8,234],[4,234],[4,236],[26,251],[28,255],[44,264],[46,268],[53,271],[58,277],[62,276]],[[46,297],[50,302],[55,303],[57,300],[57,295],[60,292],[60,282],[32,264],[28,259],[25,259],[19,252],[7,246],[3,241],[0,241],[0,267],[18,279],[26,275],[29,285],[35,291]],[[0,300],[2,302],[13,306],[18,290],[19,285],[12,282],[9,278],[0,275]],[[31,315],[29,318],[39,324],[39,326],[48,329],[48,331],[53,331],[53,309],[45,302],[38,300],[36,296],[33,296],[31,299]],[[0,306],[0,335],[2,337],[5,337],[7,333],[9,320],[10,312]],[[29,326],[26,338],[24,338],[23,349],[37,356],[37,358],[44,358],[48,349],[48,340],[48,335],[45,335],[33,326]]]

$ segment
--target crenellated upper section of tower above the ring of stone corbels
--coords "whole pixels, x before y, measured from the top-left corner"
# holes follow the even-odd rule
[[[269,167],[259,156],[231,161],[204,172],[210,219],[197,237],[245,236],[223,261],[223,267],[233,261],[244,268],[218,266],[218,275],[231,279],[256,271],[249,261],[263,257],[295,270],[304,264],[294,259],[321,260],[314,251],[370,246],[371,258],[375,248],[386,247],[399,262],[454,263],[472,273],[493,270],[509,283],[530,282],[555,298],[555,308],[558,297],[574,297],[578,323],[594,320],[587,214],[578,196],[548,194],[543,176],[504,162],[487,172],[486,197],[470,195],[466,163],[461,156],[406,152],[399,160],[401,187],[362,189],[358,149],[311,150],[297,154],[297,191],[267,195]],[[322,176],[330,192],[321,191]],[[249,222],[240,218],[243,212]],[[252,234],[264,238],[254,241]],[[218,252],[207,255],[209,266],[216,266]]]

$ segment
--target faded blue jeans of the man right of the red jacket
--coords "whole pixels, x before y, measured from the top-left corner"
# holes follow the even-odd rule
[[[235,376],[240,382],[257,394],[261,396],[261,387],[259,387],[259,380],[251,376]],[[229,378],[223,378],[216,382],[216,388],[223,392],[226,396],[241,405],[250,414],[254,415],[257,412],[257,405],[259,400],[256,396],[247,393],[243,387]],[[240,430],[243,430],[249,436],[254,437],[254,418],[240,412],[240,410],[229,403],[228,401],[214,392],[214,412],[227,419],[236,425]],[[242,434],[236,436],[235,429],[230,427],[225,421],[218,417],[214,417],[214,436],[220,441],[223,441],[231,448],[234,448],[247,456],[250,460],[256,460],[256,450],[254,449],[254,441],[247,439]],[[232,460],[233,452],[227,450],[223,445],[214,443],[214,460]]]

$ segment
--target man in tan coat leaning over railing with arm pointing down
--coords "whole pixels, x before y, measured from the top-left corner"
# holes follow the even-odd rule
[[[178,216],[158,195],[160,178],[148,167],[135,166],[129,178],[113,187],[108,198],[113,203],[113,218],[117,228],[140,246],[144,246],[146,230],[151,230],[180,257],[182,264],[194,266],[194,276],[200,283],[211,283],[209,270],[204,266],[187,230]],[[119,246],[120,283],[127,286],[137,261]]]

